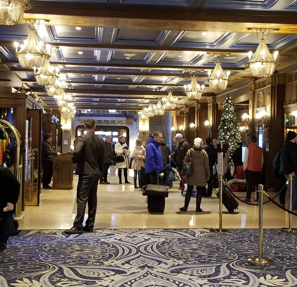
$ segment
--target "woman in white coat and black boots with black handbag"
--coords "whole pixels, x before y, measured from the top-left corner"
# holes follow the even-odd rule
[[[131,151],[129,150],[129,147],[125,143],[125,137],[121,136],[119,137],[119,142],[116,143],[114,146],[114,151],[117,156],[123,155],[124,161],[123,162],[117,162],[116,168],[118,170],[119,175],[119,184],[122,183],[122,169],[124,169],[124,177],[125,177],[125,183],[130,183],[128,181],[128,168],[129,168],[129,154]]]

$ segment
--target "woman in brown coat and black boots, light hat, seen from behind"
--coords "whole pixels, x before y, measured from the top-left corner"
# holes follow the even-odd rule
[[[209,171],[209,162],[208,162],[208,156],[205,150],[202,148],[203,141],[200,139],[200,137],[195,138],[194,140],[194,147],[189,149],[185,158],[184,162],[192,161],[192,167],[193,167],[193,174],[190,177],[187,177],[186,183],[188,185],[187,193],[185,196],[185,204],[183,207],[181,207],[180,211],[187,211],[188,206],[191,200],[191,193],[194,188],[194,185],[196,185],[196,212],[203,211],[200,208],[201,203],[201,197],[205,193],[205,186],[206,181],[210,177],[210,171]]]

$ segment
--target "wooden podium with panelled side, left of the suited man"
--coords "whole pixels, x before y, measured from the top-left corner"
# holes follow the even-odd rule
[[[73,188],[72,152],[53,155],[53,189]]]

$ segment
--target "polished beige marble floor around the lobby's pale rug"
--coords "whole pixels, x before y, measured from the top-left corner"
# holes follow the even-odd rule
[[[134,185],[119,184],[118,177],[114,166],[110,167],[111,175],[108,180],[110,185],[98,185],[98,201],[100,194],[110,193],[110,204],[117,201],[119,195],[129,192],[135,196],[141,196],[140,190],[134,190]],[[129,172],[129,181],[133,183],[133,170]],[[19,229],[68,229],[72,227],[75,214],[72,214],[73,204],[76,195],[76,185],[78,177],[74,176],[73,190],[42,190],[40,195],[39,206],[27,206],[23,211],[24,217],[19,221]],[[179,193],[177,189],[178,183],[174,184],[174,188],[170,192]],[[244,198],[245,193],[237,193],[238,196]],[[273,196],[273,194],[271,194]],[[119,197],[120,198],[120,197]],[[118,200],[119,200],[118,198]],[[145,202],[146,198],[143,197]],[[184,198],[180,196],[180,206],[183,206]],[[266,201],[266,198],[264,198]],[[133,198],[131,198],[131,203]],[[169,198],[166,204],[170,204]],[[219,204],[219,201],[217,201]],[[190,206],[195,209],[195,200],[192,199]],[[203,199],[201,203],[203,208]],[[257,228],[258,227],[258,207],[250,206],[239,202],[239,209],[246,212],[238,214],[223,214],[223,228]],[[96,215],[96,229],[105,228],[211,228],[218,227],[219,215],[217,212],[207,214],[198,214],[195,212],[187,212],[166,214],[149,214],[146,210],[143,213],[121,213],[114,210],[114,213],[101,213]],[[280,228],[288,226],[288,215],[282,209],[279,209],[273,203],[264,205],[263,227],[264,228]],[[297,227],[297,217],[292,216],[292,226]]]

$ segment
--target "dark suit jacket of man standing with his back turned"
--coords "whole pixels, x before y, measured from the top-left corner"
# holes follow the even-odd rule
[[[75,174],[102,174],[104,166],[103,140],[91,132],[78,137],[72,162],[78,163]]]

